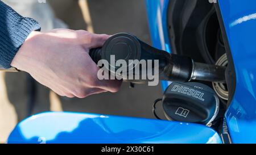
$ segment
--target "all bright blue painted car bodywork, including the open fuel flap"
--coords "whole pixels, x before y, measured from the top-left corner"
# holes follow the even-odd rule
[[[171,53],[167,7],[171,0],[146,0],[154,47]],[[214,1],[209,1],[214,2]],[[219,0],[226,46],[236,85],[225,114],[233,143],[256,143],[256,1]],[[222,32],[222,33],[223,33]],[[163,81],[163,90],[169,82]],[[47,112],[20,122],[8,143],[222,143],[200,124],[70,112]]]

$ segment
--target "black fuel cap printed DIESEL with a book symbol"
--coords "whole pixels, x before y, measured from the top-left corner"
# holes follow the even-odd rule
[[[164,92],[163,109],[167,119],[179,122],[212,122],[219,108],[219,99],[209,86],[197,82],[172,82]]]

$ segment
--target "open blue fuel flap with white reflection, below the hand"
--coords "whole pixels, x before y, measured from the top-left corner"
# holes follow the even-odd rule
[[[19,123],[7,143],[221,143],[221,139],[199,124],[46,112]]]

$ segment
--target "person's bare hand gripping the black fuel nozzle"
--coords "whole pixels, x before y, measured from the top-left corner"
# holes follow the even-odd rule
[[[99,68],[89,56],[89,49],[101,47],[108,38],[83,30],[34,31],[11,66],[29,73],[61,96],[85,98],[105,91],[114,93],[122,82],[99,80]]]

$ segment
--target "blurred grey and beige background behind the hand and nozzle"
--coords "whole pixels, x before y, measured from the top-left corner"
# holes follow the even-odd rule
[[[38,20],[42,31],[52,28],[114,34],[129,32],[148,44],[144,0],[5,0],[14,10]],[[154,118],[152,103],[162,96],[160,85],[123,83],[118,93],[85,99],[59,97],[27,73],[0,73],[0,143],[5,143],[16,123],[44,111],[75,111]]]

